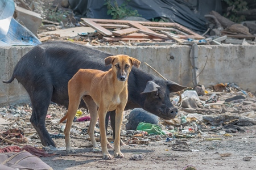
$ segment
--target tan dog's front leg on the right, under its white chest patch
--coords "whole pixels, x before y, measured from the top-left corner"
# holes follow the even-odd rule
[[[124,158],[122,152],[120,151],[120,132],[121,132],[121,124],[123,120],[123,109],[124,107],[120,105],[115,111],[115,141],[114,141],[115,158]]]

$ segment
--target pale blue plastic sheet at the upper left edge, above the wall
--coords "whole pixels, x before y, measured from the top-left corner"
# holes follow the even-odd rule
[[[13,0],[0,0],[0,46],[38,45],[40,40],[14,18]]]

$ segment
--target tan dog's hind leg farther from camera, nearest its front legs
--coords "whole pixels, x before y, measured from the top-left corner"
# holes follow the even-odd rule
[[[93,147],[99,147],[98,143],[96,142],[95,137],[94,137],[94,127],[98,120],[97,105],[93,101],[92,97],[90,97],[88,95],[83,96],[82,99],[85,101],[85,103],[89,109],[89,112],[90,112],[90,124],[89,124],[89,128],[88,128],[88,134],[90,136],[90,141],[92,141]]]

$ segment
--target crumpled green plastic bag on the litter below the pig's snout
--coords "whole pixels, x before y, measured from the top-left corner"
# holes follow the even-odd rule
[[[153,125],[153,124],[148,124],[143,122],[139,123],[136,130],[146,131],[148,134],[165,135],[165,133],[162,131],[162,129],[158,125]]]

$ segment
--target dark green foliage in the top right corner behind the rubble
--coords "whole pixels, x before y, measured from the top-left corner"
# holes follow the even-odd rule
[[[247,2],[244,0],[222,0],[228,5],[227,11],[224,13],[224,16],[233,22],[240,23],[245,20],[244,15],[237,15],[237,11],[246,11]]]

